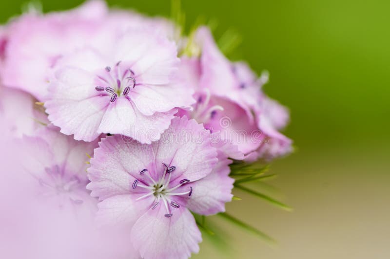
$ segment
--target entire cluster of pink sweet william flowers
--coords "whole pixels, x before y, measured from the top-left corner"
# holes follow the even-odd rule
[[[292,150],[268,74],[180,32],[101,1],[1,27],[4,258],[189,258],[234,186],[285,206],[242,185]]]

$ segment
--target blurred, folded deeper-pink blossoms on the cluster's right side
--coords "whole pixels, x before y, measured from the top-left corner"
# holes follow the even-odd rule
[[[194,89],[197,102],[193,111],[177,115],[195,118],[221,142],[237,146],[241,156],[230,154],[234,159],[244,155],[271,159],[291,150],[291,141],[277,131],[287,124],[289,114],[261,90],[268,74],[258,78],[246,63],[230,62],[206,27],[200,27],[191,42],[200,56],[183,56],[181,74],[187,87]]]

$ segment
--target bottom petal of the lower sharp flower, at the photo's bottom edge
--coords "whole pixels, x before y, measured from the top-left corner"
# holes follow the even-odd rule
[[[194,216],[185,208],[175,209],[172,217],[164,217],[165,207],[148,210],[134,224],[131,241],[144,259],[187,259],[199,252],[202,241]]]

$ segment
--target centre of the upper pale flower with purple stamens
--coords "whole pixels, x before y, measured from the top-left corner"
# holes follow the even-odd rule
[[[111,95],[110,102],[115,102],[119,96],[127,96],[131,88],[136,87],[135,73],[130,68],[123,69],[117,62],[114,69],[107,66],[102,74],[97,76],[95,87],[97,92]]]

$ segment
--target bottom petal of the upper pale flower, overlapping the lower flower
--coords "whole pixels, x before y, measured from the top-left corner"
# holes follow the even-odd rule
[[[122,134],[142,144],[151,144],[159,140],[161,133],[168,129],[175,113],[176,110],[171,110],[146,116],[138,111],[132,100],[119,97],[109,104],[98,132]]]

